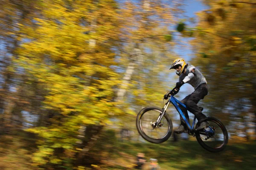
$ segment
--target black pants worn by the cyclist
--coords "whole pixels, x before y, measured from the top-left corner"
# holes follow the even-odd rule
[[[204,99],[204,96],[206,96],[207,94],[208,94],[207,84],[202,83],[201,85],[198,86],[197,89],[195,89],[195,91],[192,94],[189,94],[183,100],[180,101],[186,105],[188,111],[190,111],[195,115],[195,117],[198,119],[198,122],[203,122],[204,120],[207,119],[207,116],[205,116],[202,113],[201,109],[197,105],[199,100]],[[187,110],[183,108],[181,105],[179,105],[179,107],[183,112],[183,114],[185,115],[187,121],[189,122],[189,115]],[[183,121],[181,116],[180,116],[180,122],[181,124],[186,125],[186,123]]]

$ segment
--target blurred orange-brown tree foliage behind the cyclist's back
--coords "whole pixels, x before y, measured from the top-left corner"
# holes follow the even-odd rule
[[[200,65],[207,78],[206,100],[212,115],[226,120],[226,125],[245,122],[240,130],[246,133],[253,120],[248,113],[254,113],[255,127],[256,6],[252,1],[203,2],[209,9],[198,12],[195,28],[186,29],[195,37],[192,63]]]

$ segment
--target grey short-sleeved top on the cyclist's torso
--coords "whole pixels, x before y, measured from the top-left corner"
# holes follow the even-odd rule
[[[186,68],[186,72],[180,74],[179,82],[181,82],[189,74],[189,72],[191,72],[192,69],[195,69],[195,77],[193,77],[187,83],[192,85],[194,89],[198,88],[198,86],[201,85],[202,83],[207,83],[203,74],[201,74],[201,72],[197,68],[195,68],[195,66],[193,65],[189,65]]]

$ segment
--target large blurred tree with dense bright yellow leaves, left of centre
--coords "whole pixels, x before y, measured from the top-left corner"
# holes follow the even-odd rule
[[[35,165],[70,165],[82,124],[105,124],[114,107],[113,47],[118,40],[118,14],[113,0],[44,1],[34,17],[35,30],[20,28],[15,70],[22,68],[26,84],[44,93],[39,127],[29,129],[42,138]],[[96,25],[92,24],[96,23]],[[30,30],[31,32],[28,32]],[[36,33],[36,34],[35,34]],[[94,41],[93,41],[94,40]]]

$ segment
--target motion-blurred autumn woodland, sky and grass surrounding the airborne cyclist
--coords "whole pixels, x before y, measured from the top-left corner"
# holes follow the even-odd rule
[[[255,0],[0,4],[0,170],[256,167]],[[175,87],[177,58],[207,79],[198,105],[227,127],[221,153],[185,133],[151,144],[137,132],[140,109],[162,108]]]

